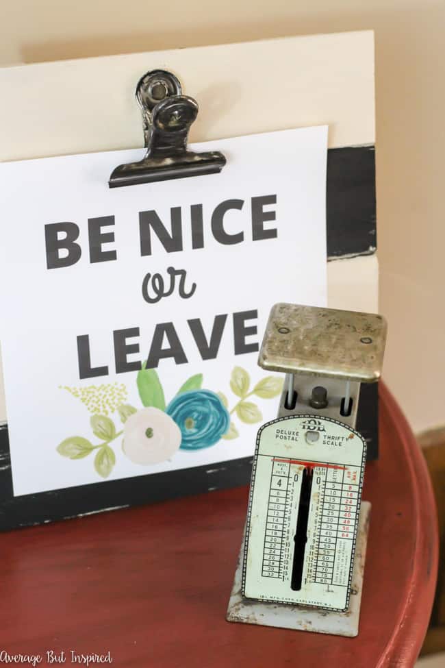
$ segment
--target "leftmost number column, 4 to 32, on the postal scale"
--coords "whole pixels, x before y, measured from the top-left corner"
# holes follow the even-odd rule
[[[290,462],[272,461],[262,565],[262,576],[265,578],[279,578],[281,575],[289,471]]]

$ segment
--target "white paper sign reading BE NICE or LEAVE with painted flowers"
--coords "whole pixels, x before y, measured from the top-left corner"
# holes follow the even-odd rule
[[[14,495],[250,456],[275,417],[270,307],[326,304],[327,127],[195,148],[227,165],[114,189],[144,151],[0,165]]]

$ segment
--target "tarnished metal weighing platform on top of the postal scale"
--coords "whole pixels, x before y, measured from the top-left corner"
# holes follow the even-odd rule
[[[258,363],[268,371],[375,382],[381,375],[385,339],[381,315],[275,304]]]

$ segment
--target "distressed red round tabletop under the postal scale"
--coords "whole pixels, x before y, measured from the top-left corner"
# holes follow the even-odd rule
[[[225,621],[248,489],[212,492],[1,536],[1,649],[110,652],[131,668],[412,666],[437,573],[429,475],[381,388],[381,458],[355,639]],[[186,473],[184,473],[186,475]],[[149,484],[149,483],[147,483]],[[106,665],[106,664],[105,664]]]

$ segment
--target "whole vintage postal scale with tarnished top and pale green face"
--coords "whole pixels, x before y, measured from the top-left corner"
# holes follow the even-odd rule
[[[286,378],[277,419],[257,435],[229,621],[357,635],[370,504],[355,422],[385,336],[377,314],[272,308],[259,366]]]

